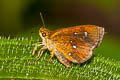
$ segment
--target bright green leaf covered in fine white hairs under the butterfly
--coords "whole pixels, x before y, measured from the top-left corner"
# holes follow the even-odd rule
[[[0,79],[120,79],[120,61],[96,54],[83,64],[72,64],[72,68],[67,68],[56,57],[48,64],[49,51],[37,61],[31,55],[33,48],[34,43],[29,38],[0,37]]]

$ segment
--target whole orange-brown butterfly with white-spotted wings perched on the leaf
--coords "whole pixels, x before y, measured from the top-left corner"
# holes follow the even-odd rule
[[[43,18],[42,22],[45,26]],[[66,67],[71,67],[70,62],[80,64],[91,58],[92,51],[100,45],[103,39],[104,28],[95,25],[81,25],[50,31],[41,27],[39,35],[42,42],[36,43],[32,55],[38,46],[43,45],[38,52],[38,58],[45,49],[48,49],[51,54],[48,62],[56,56]]]

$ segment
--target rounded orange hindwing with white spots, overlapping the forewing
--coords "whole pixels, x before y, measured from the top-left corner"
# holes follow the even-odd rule
[[[56,50],[62,53],[69,61],[82,63],[92,56],[92,49],[83,41],[78,41],[68,36],[57,36],[55,39],[54,45]]]

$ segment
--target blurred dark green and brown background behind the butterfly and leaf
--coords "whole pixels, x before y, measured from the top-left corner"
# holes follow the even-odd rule
[[[120,0],[0,0],[0,36],[38,34],[40,12],[48,29],[103,26],[107,34],[95,52],[120,60]]]

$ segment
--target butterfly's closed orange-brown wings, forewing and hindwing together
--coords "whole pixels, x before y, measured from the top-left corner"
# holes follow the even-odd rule
[[[88,25],[56,30],[50,38],[65,58],[83,63],[92,56],[92,50],[100,44],[103,34],[102,27]]]

